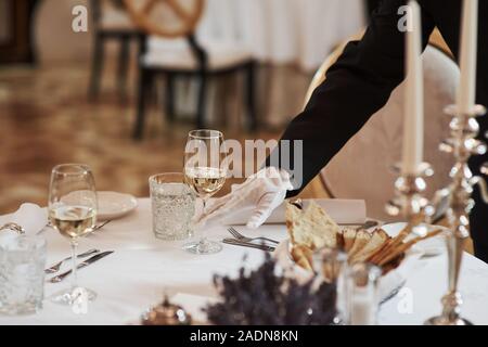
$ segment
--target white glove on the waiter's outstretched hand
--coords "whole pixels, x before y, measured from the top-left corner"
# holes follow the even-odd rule
[[[216,221],[251,207],[253,213],[247,227],[257,229],[283,203],[290,190],[293,190],[290,174],[275,167],[267,167],[251,176],[244,183],[232,185],[230,194],[209,202],[197,222]]]

